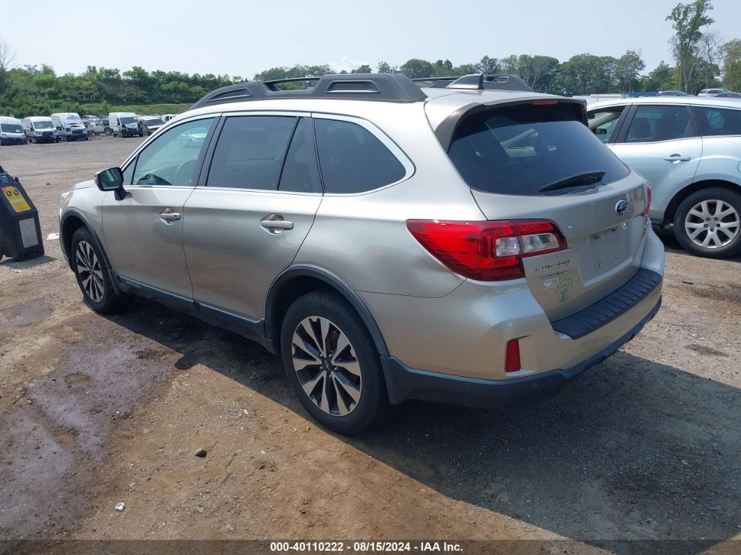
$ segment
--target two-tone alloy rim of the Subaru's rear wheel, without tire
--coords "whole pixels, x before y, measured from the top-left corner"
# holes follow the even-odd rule
[[[291,345],[293,369],[314,405],[333,416],[358,406],[362,373],[353,345],[333,322],[309,316],[299,322]]]

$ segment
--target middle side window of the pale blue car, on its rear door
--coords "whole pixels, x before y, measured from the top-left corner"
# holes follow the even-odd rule
[[[657,142],[694,136],[686,106],[638,106],[625,142]]]

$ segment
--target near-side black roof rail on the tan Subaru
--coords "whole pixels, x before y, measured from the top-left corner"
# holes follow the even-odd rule
[[[305,88],[285,90],[281,83],[302,82]],[[306,85],[316,82],[312,87]],[[212,90],[189,109],[263,99],[362,99],[387,102],[419,102],[425,95],[411,79],[401,73],[348,73],[321,77],[296,77],[271,81],[230,84]]]

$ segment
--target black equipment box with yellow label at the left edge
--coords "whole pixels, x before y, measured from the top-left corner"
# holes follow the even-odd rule
[[[0,259],[25,260],[44,254],[39,211],[16,177],[0,166]]]

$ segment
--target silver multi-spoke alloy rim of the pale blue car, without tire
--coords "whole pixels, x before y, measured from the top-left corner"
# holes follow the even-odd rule
[[[691,207],[685,217],[685,233],[695,245],[715,249],[725,247],[739,233],[740,217],[728,202],[710,199]]]

